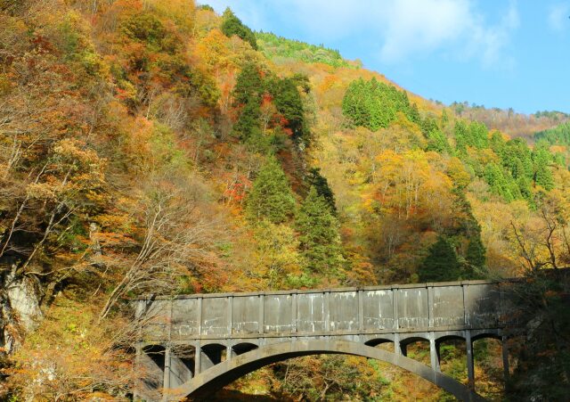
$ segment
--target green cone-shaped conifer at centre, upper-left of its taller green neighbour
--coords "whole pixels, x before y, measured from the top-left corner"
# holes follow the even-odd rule
[[[266,218],[273,224],[281,224],[295,213],[295,198],[289,180],[279,161],[269,157],[259,170],[248,194],[246,215],[258,221]]]

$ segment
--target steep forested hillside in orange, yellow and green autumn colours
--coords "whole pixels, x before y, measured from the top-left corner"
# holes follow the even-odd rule
[[[570,144],[545,121],[512,139],[192,0],[0,0],[0,398],[127,400],[142,294],[567,267]],[[502,398],[496,348],[477,391]],[[444,349],[460,381],[464,353]],[[232,390],[447,398],[338,356]]]

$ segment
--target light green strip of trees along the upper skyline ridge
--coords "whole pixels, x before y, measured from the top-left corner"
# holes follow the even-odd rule
[[[268,59],[286,57],[301,62],[320,62],[332,67],[352,67],[337,50],[322,45],[309,45],[305,42],[278,37],[271,32],[256,32],[257,45]]]

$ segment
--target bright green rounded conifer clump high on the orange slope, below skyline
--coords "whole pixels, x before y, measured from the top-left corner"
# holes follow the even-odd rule
[[[419,119],[417,109],[411,107],[405,92],[376,78],[370,81],[358,78],[351,82],[342,100],[342,111],[354,126],[367,127],[371,131],[388,127],[398,111],[411,121]]]

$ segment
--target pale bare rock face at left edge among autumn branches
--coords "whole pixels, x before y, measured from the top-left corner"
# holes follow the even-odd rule
[[[0,276],[0,355],[10,354],[26,332],[37,328],[43,317],[40,287],[28,277],[16,277],[15,269]]]

